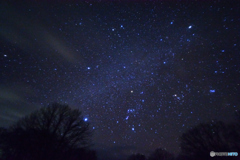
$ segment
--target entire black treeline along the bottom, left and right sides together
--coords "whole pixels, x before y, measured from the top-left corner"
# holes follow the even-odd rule
[[[148,157],[138,153],[127,160],[212,160],[211,151],[240,153],[240,112],[236,117],[231,124],[211,121],[189,129],[180,137],[177,157],[158,148]],[[92,134],[78,109],[53,103],[0,128],[0,160],[97,160],[96,151],[89,149]]]

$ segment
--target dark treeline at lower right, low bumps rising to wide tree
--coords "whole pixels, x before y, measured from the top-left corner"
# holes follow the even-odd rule
[[[140,153],[128,160],[227,160],[240,159],[240,112],[236,121],[225,124],[221,121],[200,123],[180,137],[181,152],[177,157],[164,149],[156,149],[149,157]],[[234,156],[217,156],[210,152],[237,152]]]

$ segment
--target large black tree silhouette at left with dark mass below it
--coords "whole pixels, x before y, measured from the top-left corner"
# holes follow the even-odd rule
[[[87,148],[91,138],[81,112],[58,103],[25,116],[1,132],[3,157],[19,160],[75,159],[76,150]]]

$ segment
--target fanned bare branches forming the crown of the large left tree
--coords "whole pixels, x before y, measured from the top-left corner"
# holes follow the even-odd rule
[[[59,145],[86,146],[89,143],[89,124],[83,120],[81,111],[68,105],[53,103],[19,120],[13,128],[45,131],[60,138]]]

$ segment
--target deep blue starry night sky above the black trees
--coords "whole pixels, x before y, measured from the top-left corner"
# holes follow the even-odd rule
[[[99,154],[177,154],[182,133],[240,108],[239,15],[237,1],[1,1],[0,126],[68,103]]]

